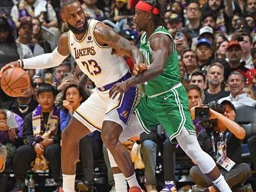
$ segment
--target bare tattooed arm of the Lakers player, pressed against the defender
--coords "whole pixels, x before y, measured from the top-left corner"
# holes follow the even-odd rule
[[[103,23],[97,23],[94,28],[94,37],[101,45],[109,45],[123,56],[132,58],[134,63],[144,63],[140,50],[116,33],[111,27]]]

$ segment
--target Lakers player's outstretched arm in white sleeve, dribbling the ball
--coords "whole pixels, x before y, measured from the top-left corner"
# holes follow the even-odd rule
[[[69,45],[67,34],[62,34],[58,47],[54,49],[52,53],[41,54],[39,56],[19,59],[17,61],[8,63],[0,71],[0,78],[3,72],[10,67],[21,67],[24,69],[47,69],[50,67],[56,67],[62,63],[62,61],[69,56]]]

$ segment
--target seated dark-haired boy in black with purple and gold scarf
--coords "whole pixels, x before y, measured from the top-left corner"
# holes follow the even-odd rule
[[[36,156],[44,155],[49,162],[52,178],[60,184],[61,148],[59,141],[59,109],[54,107],[54,87],[48,84],[37,89],[39,105],[27,114],[23,123],[25,145],[19,147],[14,156],[16,186],[12,191],[25,191],[25,177]],[[48,136],[45,136],[48,133]]]

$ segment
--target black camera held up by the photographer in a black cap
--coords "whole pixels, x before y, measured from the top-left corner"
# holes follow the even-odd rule
[[[220,105],[217,101],[211,101],[207,105],[207,107],[196,107],[195,109],[195,118],[199,119],[200,124],[204,126],[206,129],[217,126],[217,120],[210,120],[210,112],[209,109],[213,109],[214,111],[219,112],[220,114],[224,114],[225,105]]]

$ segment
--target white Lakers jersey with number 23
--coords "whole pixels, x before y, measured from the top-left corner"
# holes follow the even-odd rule
[[[79,41],[69,30],[69,50],[80,69],[94,81],[96,87],[103,87],[120,80],[128,72],[125,59],[112,55],[112,47],[98,45],[93,31],[96,23],[90,20],[85,36]]]

